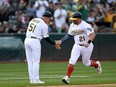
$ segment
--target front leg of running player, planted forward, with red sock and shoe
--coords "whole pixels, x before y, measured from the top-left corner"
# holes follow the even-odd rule
[[[62,81],[66,84],[70,83],[70,76],[72,72],[74,71],[74,65],[77,62],[78,58],[80,56],[80,50],[78,45],[74,45],[71,51],[71,57],[69,59],[69,64],[68,64],[68,70],[66,76],[62,79]]]

